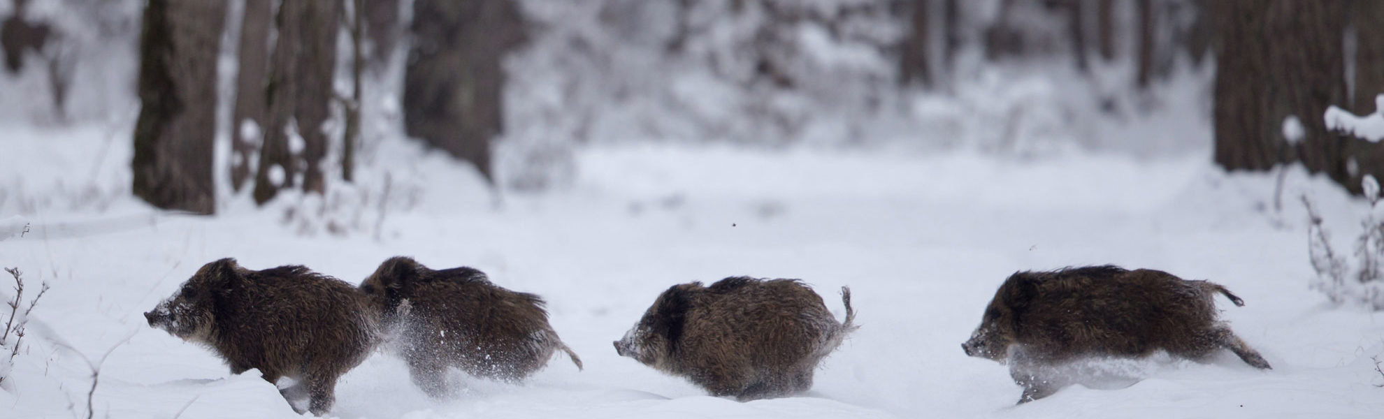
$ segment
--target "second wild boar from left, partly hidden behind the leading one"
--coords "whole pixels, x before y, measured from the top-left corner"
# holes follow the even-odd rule
[[[414,383],[429,395],[448,393],[448,366],[519,382],[562,350],[581,368],[581,358],[548,325],[541,297],[494,285],[482,271],[436,271],[399,256],[379,264],[360,288],[383,313],[386,333],[399,336]]]

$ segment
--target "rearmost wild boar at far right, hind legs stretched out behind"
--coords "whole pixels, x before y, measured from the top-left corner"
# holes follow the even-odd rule
[[[967,355],[1009,364],[1024,387],[1019,402],[1050,395],[1063,379],[1052,366],[1080,357],[1146,357],[1157,350],[1199,362],[1230,350],[1254,368],[1259,353],[1218,321],[1214,296],[1240,297],[1218,283],[1114,266],[1014,272],[995,292]]]

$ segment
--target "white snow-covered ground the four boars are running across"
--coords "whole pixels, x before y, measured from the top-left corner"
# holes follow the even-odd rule
[[[115,134],[112,134],[115,133]],[[209,350],[140,315],[203,263],[304,264],[360,282],[386,257],[472,266],[548,300],[585,361],[555,358],[522,386],[457,376],[435,401],[385,353],[343,376],[340,418],[1378,418],[1384,317],[1331,307],[1313,278],[1313,196],[1338,249],[1365,203],[1301,170],[1282,213],[1273,174],[1226,174],[1201,152],[1048,159],[696,145],[579,149],[563,191],[508,195],[403,141],[381,144],[361,187],[255,209],[223,194],[220,214],[158,213],[129,195],[127,127],[0,127],[0,266],[18,267],[33,310],[0,391],[0,418],[289,418],[274,386],[230,375]],[[386,171],[388,181],[386,181]],[[388,185],[388,187],[386,187]],[[386,194],[388,191],[388,194]],[[242,192],[244,194],[244,192]],[[291,213],[292,210],[292,213]],[[322,218],[340,225],[327,225]],[[335,231],[335,232],[334,232]],[[1008,369],[960,343],[1016,270],[1114,263],[1212,279],[1244,297],[1223,318],[1273,365],[1153,357],[1104,366],[1132,386],[1067,387],[1014,405]],[[736,402],[616,355],[619,339],[671,283],[728,275],[803,278],[837,315],[851,286],[862,328],[803,395]],[[0,278],[0,297],[12,296]],[[71,347],[71,350],[64,348]],[[113,350],[112,350],[113,347]],[[1128,384],[1127,380],[1125,384]]]

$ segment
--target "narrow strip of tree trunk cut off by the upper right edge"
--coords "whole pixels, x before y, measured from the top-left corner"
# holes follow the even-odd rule
[[[1355,113],[1374,113],[1384,94],[1384,1],[1355,1]]]

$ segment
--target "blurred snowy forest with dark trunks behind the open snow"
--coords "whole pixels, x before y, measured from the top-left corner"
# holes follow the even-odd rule
[[[1203,120],[1186,123],[1211,126],[1228,170],[1301,162],[1354,192],[1384,174],[1374,144],[1322,122],[1329,105],[1376,111],[1380,1],[0,3],[0,89],[46,98],[0,98],[0,119],[141,109],[136,194],[199,213],[215,210],[213,159],[233,191],[253,178],[256,202],[321,194],[388,136],[378,126],[497,188],[541,189],[591,142],[1120,148],[1135,140],[1092,127],[1153,123],[1179,86],[1204,89]],[[1290,116],[1301,142],[1284,137]],[[215,141],[230,155],[212,156]]]

